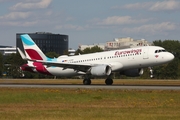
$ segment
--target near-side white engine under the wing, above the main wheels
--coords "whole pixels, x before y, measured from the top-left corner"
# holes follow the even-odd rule
[[[111,67],[108,65],[98,65],[91,68],[90,73],[94,76],[106,76],[111,74]]]

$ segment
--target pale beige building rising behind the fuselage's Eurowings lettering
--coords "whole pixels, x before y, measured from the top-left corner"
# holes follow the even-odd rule
[[[134,40],[133,38],[126,37],[126,38],[115,38],[113,41],[108,41],[104,45],[97,45],[98,47],[102,48],[103,50],[114,50],[114,49],[123,49],[123,48],[132,48],[138,46],[148,46],[152,45],[152,43],[148,42],[145,39]],[[91,48],[96,45],[80,45],[79,49],[84,50],[86,48]]]

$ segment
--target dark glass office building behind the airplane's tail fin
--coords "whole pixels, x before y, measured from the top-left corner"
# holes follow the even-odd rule
[[[53,34],[49,32],[17,33],[16,46],[21,50],[23,50],[20,39],[21,34],[28,34],[44,53],[55,52],[62,55],[65,51],[68,51],[68,35]]]

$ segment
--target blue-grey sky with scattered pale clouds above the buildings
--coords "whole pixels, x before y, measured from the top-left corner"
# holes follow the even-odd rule
[[[16,33],[69,36],[69,48],[115,38],[180,40],[180,0],[0,0],[0,45]]]

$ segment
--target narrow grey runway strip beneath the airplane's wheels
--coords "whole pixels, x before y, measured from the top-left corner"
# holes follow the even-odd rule
[[[10,88],[69,88],[69,89],[137,89],[137,90],[180,90],[180,86],[157,85],[62,85],[62,84],[0,84]]]

